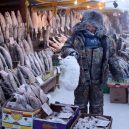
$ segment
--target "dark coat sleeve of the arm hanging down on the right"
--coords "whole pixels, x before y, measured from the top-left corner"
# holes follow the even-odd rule
[[[115,43],[113,40],[108,39],[109,43],[109,70],[114,80],[121,80],[125,76],[125,72],[119,63],[119,57],[116,55]]]

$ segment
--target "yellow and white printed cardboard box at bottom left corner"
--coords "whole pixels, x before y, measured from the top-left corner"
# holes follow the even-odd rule
[[[7,102],[12,100],[13,97],[11,97]],[[33,129],[33,117],[41,111],[41,108],[32,112],[19,111],[7,108],[6,104],[2,108],[2,127],[5,129]]]

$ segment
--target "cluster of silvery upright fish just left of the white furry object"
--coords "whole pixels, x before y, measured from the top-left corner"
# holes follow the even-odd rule
[[[47,71],[53,70],[52,55],[53,52],[49,48],[34,52],[25,56],[24,65],[32,69],[35,76],[45,75]]]

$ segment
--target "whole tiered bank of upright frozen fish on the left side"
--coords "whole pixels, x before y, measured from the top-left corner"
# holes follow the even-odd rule
[[[0,13],[0,106],[21,85],[40,85],[36,78],[53,71],[52,55],[49,48],[34,51],[20,11]]]

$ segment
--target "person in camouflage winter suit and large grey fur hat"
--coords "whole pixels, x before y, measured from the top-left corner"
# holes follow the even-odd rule
[[[102,86],[107,81],[109,67],[110,70],[115,68],[118,73],[116,75],[116,72],[111,71],[114,78],[120,79],[122,76],[113,42],[106,35],[103,14],[95,10],[86,11],[73,30],[61,53],[62,57],[75,56],[80,65],[74,102],[83,113],[87,113],[89,102],[89,113],[103,114]]]

